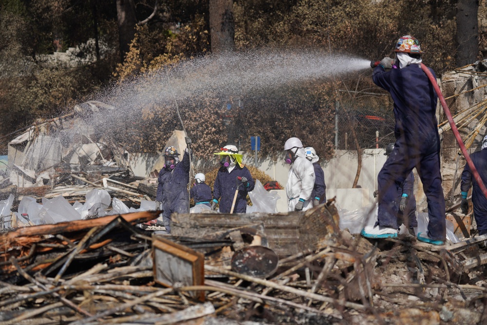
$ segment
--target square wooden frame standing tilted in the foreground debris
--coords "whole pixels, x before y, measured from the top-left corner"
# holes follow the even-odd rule
[[[183,286],[205,285],[205,256],[161,236],[152,236],[154,281],[164,287],[179,282]],[[191,297],[205,301],[205,291],[190,291]]]

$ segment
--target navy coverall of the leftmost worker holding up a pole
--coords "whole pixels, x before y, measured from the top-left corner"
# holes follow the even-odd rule
[[[157,178],[156,201],[162,203],[162,221],[170,233],[171,213],[189,213],[187,184],[189,183],[189,154],[184,153],[183,160],[173,170],[162,168]]]

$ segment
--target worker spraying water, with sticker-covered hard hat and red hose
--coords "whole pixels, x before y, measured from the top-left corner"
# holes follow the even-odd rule
[[[397,210],[397,203],[389,194],[393,193],[392,190],[398,182],[404,179],[406,171],[411,171],[413,167],[416,167],[427,196],[430,218],[427,233],[419,233],[418,240],[442,245],[445,240],[445,203],[439,172],[439,136],[434,115],[437,98],[440,99],[451,130],[467,160],[468,168],[478,189],[486,198],[487,188],[467,153],[450,109],[436,82],[434,72],[422,63],[421,54],[424,52],[421,51],[419,41],[409,35],[403,36],[399,38],[394,52],[396,53],[394,59],[384,57],[382,60],[372,61],[370,64],[374,68],[375,84],[388,90],[393,97],[396,119],[394,147],[398,144],[402,147],[393,151],[396,155],[395,160],[390,164],[386,162],[379,172],[379,190],[381,186],[385,185],[386,193],[382,197],[379,195],[378,222],[374,227],[364,228],[361,233],[368,238],[397,236],[397,230],[392,225],[393,217],[391,215],[391,212]],[[397,69],[397,65],[399,65],[399,69]],[[420,73],[418,68],[424,74]],[[385,69],[392,70],[386,72]],[[434,132],[431,122],[434,122]],[[434,147],[437,149],[433,150]]]

